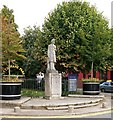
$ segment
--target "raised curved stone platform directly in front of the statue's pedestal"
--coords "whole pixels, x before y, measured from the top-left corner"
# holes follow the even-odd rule
[[[63,99],[58,100],[46,100],[43,98],[33,98],[21,105],[21,108],[24,109],[47,109],[47,107],[59,107],[59,106],[77,106],[92,104],[102,101],[102,98],[73,98],[73,97],[64,97]]]

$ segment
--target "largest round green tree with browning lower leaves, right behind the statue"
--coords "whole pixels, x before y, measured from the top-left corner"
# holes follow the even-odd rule
[[[91,65],[97,70],[106,65],[110,55],[108,21],[87,2],[58,4],[45,19],[42,34],[40,42],[44,52],[51,39],[56,39],[59,71],[85,73],[91,70]]]

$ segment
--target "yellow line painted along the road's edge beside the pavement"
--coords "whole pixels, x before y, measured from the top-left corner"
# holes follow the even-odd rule
[[[112,110],[106,110],[106,111],[100,111],[100,112],[94,112],[94,113],[87,113],[87,114],[80,114],[80,115],[62,115],[62,116],[0,116],[0,118],[84,118],[88,116],[97,116],[97,115],[103,115],[103,114],[109,114],[112,113]]]

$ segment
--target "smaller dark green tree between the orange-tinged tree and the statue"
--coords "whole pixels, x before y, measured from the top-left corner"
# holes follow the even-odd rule
[[[41,35],[40,28],[34,26],[26,28],[22,36],[23,48],[26,50],[24,55],[27,58],[23,61],[22,66],[26,77],[36,77],[37,73],[43,71],[43,55],[40,54],[43,51],[41,51],[40,42],[38,42]],[[35,46],[36,41],[38,46]]]

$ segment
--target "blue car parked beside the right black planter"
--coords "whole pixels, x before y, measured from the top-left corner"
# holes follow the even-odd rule
[[[101,92],[113,92],[113,82],[103,82],[100,84]]]

